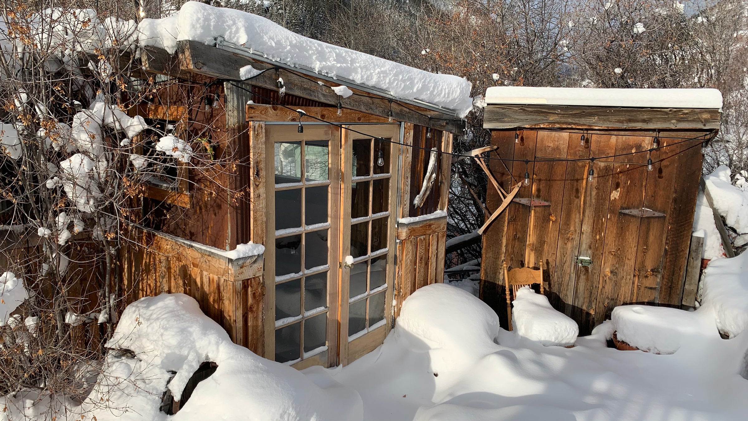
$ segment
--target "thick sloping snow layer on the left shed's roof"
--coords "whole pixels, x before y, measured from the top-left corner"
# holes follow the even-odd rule
[[[394,97],[452,109],[461,116],[473,106],[472,85],[461,77],[429,73],[302,37],[269,19],[241,10],[188,1],[175,16],[143,19],[138,31],[141,45],[159,46],[168,52],[176,50],[177,40],[212,45],[216,37],[224,37],[227,42],[244,46],[273,61],[310,67],[325,76],[352,79],[390,91]]]

